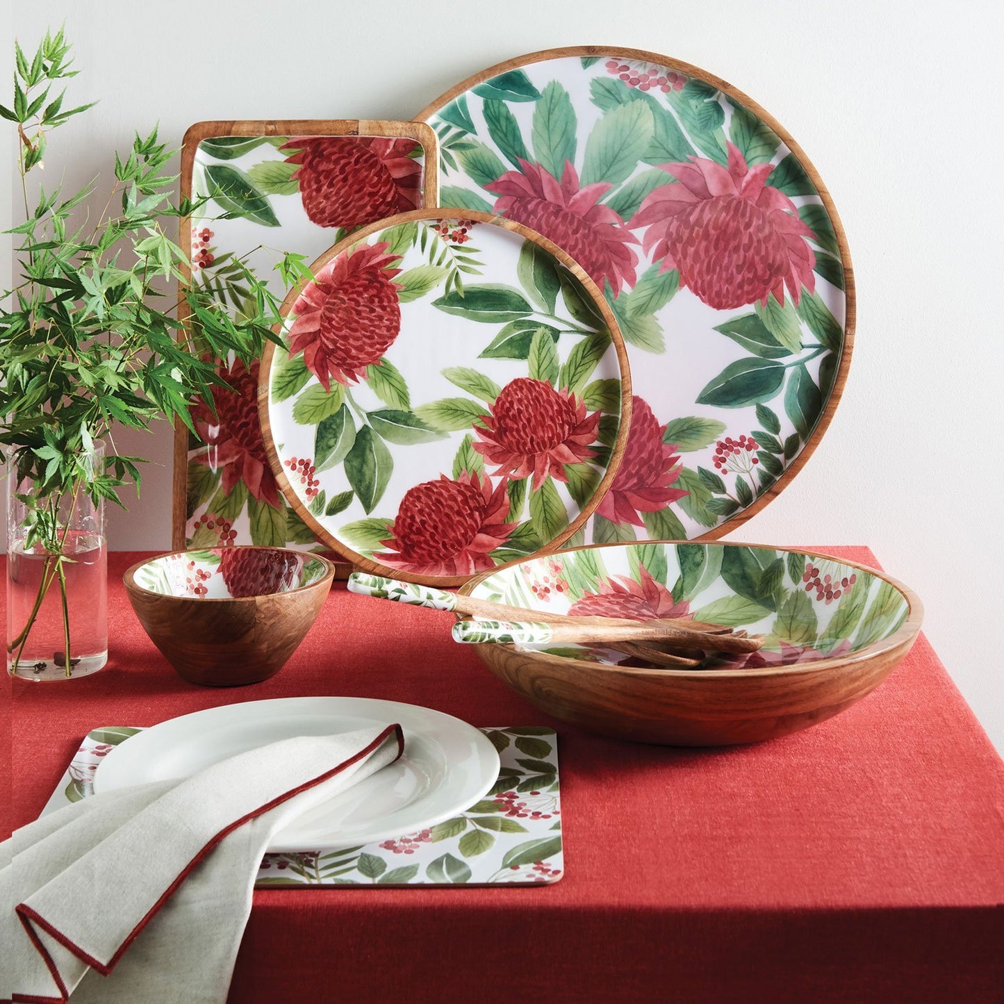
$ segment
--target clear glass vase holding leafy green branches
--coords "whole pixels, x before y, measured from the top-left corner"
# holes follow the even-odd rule
[[[103,446],[83,458],[100,471]],[[108,659],[108,566],[104,503],[86,486],[40,497],[7,457],[7,672],[22,680],[72,680]],[[29,504],[30,502],[30,504]],[[32,511],[43,508],[50,533],[29,545]]]

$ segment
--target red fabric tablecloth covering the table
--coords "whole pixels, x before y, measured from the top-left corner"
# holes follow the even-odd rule
[[[15,825],[99,725],[317,694],[554,724],[450,642],[450,614],[343,586],[277,677],[186,684],[126,599],[139,557],[111,555],[108,667],[14,682]],[[231,1001],[1001,1000],[1004,764],[923,638],[859,704],[769,743],[682,750],[557,728],[560,883],[257,892]]]

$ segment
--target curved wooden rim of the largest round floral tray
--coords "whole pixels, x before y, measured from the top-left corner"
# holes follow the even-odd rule
[[[716,540],[717,538],[724,536],[726,533],[731,533],[737,526],[741,526],[746,522],[746,520],[755,516],[761,509],[763,509],[764,506],[768,505],[775,498],[777,498],[782,491],[784,491],[791,480],[796,474],[798,474],[799,471],[801,471],[801,469],[808,462],[809,458],[815,452],[816,447],[819,445],[819,441],[829,428],[829,424],[833,419],[833,415],[836,412],[837,405],[840,403],[840,399],[843,397],[843,389],[847,381],[847,370],[850,367],[850,356],[853,352],[854,325],[856,321],[854,274],[850,262],[850,251],[847,247],[847,237],[843,230],[843,224],[840,222],[836,208],[833,205],[833,200],[830,197],[829,190],[819,177],[819,172],[816,170],[812,162],[805,156],[805,152],[802,148],[792,139],[791,134],[788,133],[788,131],[772,114],[770,114],[769,111],[741,91],[738,87],[733,86],[727,80],[723,80],[714,73],[709,73],[707,70],[702,69],[700,66],[695,66],[693,63],[684,62],[681,59],[674,59],[671,56],[662,55],[659,52],[650,52],[648,49],[624,48],[621,45],[569,45],[554,49],[540,49],[537,52],[529,52],[526,55],[516,56],[514,59],[507,59],[504,62],[496,63],[494,66],[489,66],[487,69],[483,69],[480,72],[469,76],[466,80],[463,80],[456,86],[451,87],[434,101],[427,104],[415,117],[417,119],[421,119],[422,121],[426,121],[431,115],[436,114],[461,94],[476,87],[479,83],[484,83],[485,80],[489,80],[493,76],[498,76],[500,73],[505,73],[508,70],[518,69],[522,66],[530,65],[531,63],[548,62],[554,59],[564,59],[569,57],[581,58],[583,56],[616,56],[621,59],[638,59],[645,62],[657,63],[658,65],[666,66],[668,69],[681,71],[686,73],[688,76],[697,77],[697,79],[711,84],[727,97],[733,98],[740,104],[743,104],[750,111],[758,115],[762,121],[766,122],[777,134],[781,142],[795,156],[798,163],[804,169],[805,174],[808,175],[809,180],[815,186],[816,192],[822,201],[823,208],[826,210],[826,214],[833,225],[833,233],[836,236],[837,250],[840,253],[840,265],[843,268],[843,294],[845,306],[843,339],[840,345],[840,355],[837,362],[836,374],[833,379],[833,387],[829,392],[829,396],[826,399],[826,403],[823,406],[821,413],[819,414],[819,418],[816,420],[811,433],[805,441],[804,447],[801,451],[799,451],[798,455],[791,461],[791,463],[785,467],[770,488],[767,489],[761,496],[754,499],[750,505],[740,509],[734,515],[726,517],[717,526],[711,527],[706,532],[690,538],[695,543],[699,541]]]

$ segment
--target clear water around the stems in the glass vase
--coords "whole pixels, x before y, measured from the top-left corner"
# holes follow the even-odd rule
[[[96,673],[108,658],[107,548],[104,537],[85,530],[66,534],[63,562],[69,615],[70,659],[66,667],[63,599],[58,575],[51,583],[21,648],[19,634],[28,622],[43,580],[54,563],[40,547],[26,551],[23,542],[8,554],[7,669],[25,680],[66,680]],[[12,647],[12,643],[18,643]]]

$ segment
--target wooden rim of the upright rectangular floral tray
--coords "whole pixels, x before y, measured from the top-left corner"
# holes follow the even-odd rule
[[[397,121],[384,118],[245,118],[212,120],[190,126],[182,140],[181,194],[192,197],[192,172],[195,155],[203,140],[222,136],[357,136],[387,137],[388,139],[415,140],[425,151],[423,164],[423,202],[430,206],[439,203],[439,139],[432,127],[419,121]],[[178,228],[179,244],[192,246],[192,218],[183,217]],[[192,280],[188,263],[182,266],[184,284]],[[179,302],[178,319],[188,319],[188,307]],[[185,548],[185,524],[188,519],[188,436],[189,431],[181,419],[175,422],[174,477],[172,479],[171,546]]]

